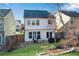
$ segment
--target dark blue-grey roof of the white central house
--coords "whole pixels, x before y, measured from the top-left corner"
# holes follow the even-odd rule
[[[24,10],[24,18],[48,18],[50,14],[45,10]]]

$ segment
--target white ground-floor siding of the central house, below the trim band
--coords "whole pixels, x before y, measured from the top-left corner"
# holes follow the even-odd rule
[[[32,32],[32,35],[33,35],[33,32],[40,32],[40,38],[39,40],[48,40],[47,36],[46,36],[46,33],[47,32],[52,32],[52,37],[54,37],[54,31],[53,30],[26,30],[25,31],[25,41],[33,41],[33,37],[32,39],[29,39],[29,32]]]

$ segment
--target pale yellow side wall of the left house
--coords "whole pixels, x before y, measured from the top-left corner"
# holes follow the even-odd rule
[[[16,33],[16,24],[12,11],[4,18],[4,30],[6,36],[15,35]]]

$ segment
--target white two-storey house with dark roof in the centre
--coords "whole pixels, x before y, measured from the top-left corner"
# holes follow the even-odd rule
[[[24,10],[25,41],[54,37],[55,17],[45,10]]]

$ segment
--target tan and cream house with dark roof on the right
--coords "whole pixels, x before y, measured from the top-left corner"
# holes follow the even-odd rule
[[[62,16],[62,20],[65,24],[66,29],[68,29],[68,36],[75,38],[79,34],[79,13],[75,11],[59,11]],[[55,14],[56,17],[56,32],[61,33],[61,35],[56,35],[60,37],[66,37],[67,32],[64,30],[63,24],[59,17],[59,12]]]

